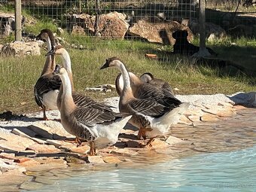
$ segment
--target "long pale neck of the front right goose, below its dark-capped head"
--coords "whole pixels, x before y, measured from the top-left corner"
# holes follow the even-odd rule
[[[123,65],[123,62],[118,62],[119,64],[119,69],[120,72],[123,76],[123,91],[122,91],[122,95],[129,95],[129,96],[133,96],[133,91],[131,88],[131,82],[130,82],[130,75],[127,72],[126,67]]]

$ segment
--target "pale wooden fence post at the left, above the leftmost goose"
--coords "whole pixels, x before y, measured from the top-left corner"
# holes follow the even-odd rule
[[[15,0],[15,41],[21,40],[21,0]]]

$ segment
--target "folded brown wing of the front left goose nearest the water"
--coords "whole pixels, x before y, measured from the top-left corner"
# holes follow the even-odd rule
[[[111,123],[117,118],[124,117],[124,114],[118,114],[111,111],[100,111],[96,108],[77,108],[73,115],[78,122],[85,126],[95,126],[98,123]]]

